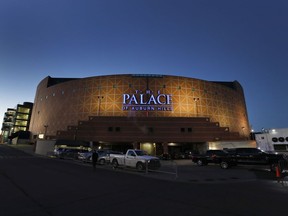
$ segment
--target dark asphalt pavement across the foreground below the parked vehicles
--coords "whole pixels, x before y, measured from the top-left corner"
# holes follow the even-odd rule
[[[163,161],[161,172],[113,170],[111,166],[97,166],[93,171],[91,164],[39,156],[31,150],[31,146],[0,145],[1,216],[271,216],[287,212],[287,187],[257,167],[222,170],[179,160]]]

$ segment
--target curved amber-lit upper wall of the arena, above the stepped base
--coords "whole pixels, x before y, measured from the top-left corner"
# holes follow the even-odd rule
[[[55,136],[89,116],[209,117],[231,132],[247,137],[250,132],[237,81],[166,75],[46,77],[37,87],[30,130],[34,135]]]

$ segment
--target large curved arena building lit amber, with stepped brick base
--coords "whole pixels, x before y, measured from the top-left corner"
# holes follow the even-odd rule
[[[150,74],[48,76],[37,87],[30,131],[34,138],[132,146],[155,155],[250,135],[237,81]]]

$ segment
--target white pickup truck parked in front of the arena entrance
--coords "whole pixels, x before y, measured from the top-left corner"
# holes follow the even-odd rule
[[[148,169],[160,168],[160,160],[157,157],[149,156],[145,151],[137,149],[128,149],[126,154],[110,154],[110,163],[113,168],[118,166],[133,167],[137,170],[144,170],[146,165]]]

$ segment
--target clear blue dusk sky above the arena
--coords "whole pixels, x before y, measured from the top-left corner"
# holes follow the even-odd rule
[[[0,122],[46,76],[237,80],[251,127],[288,128],[287,0],[0,0]]]

